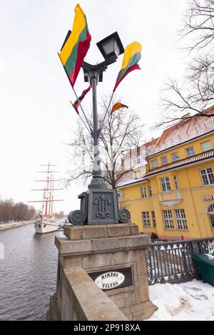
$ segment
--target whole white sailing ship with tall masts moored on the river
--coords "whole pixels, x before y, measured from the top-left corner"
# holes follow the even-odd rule
[[[60,180],[54,180],[54,173],[58,171],[54,171],[52,168],[58,165],[51,165],[49,163],[41,166],[47,167],[47,171],[39,171],[39,173],[46,173],[46,180],[35,180],[35,182],[45,182],[45,187],[32,191],[43,191],[43,200],[29,202],[42,202],[41,212],[34,222],[34,228],[36,234],[47,234],[49,232],[56,232],[59,227],[56,217],[54,217],[53,207],[54,202],[63,200],[54,199],[54,190],[62,190],[62,188],[54,188],[54,182],[59,182]]]

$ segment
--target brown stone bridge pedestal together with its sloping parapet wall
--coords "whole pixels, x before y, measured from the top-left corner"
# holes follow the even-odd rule
[[[131,224],[67,226],[64,234],[55,238],[58,275],[49,319],[143,320],[153,314],[145,253],[150,236]],[[91,279],[124,269],[131,279],[121,287],[102,291]]]

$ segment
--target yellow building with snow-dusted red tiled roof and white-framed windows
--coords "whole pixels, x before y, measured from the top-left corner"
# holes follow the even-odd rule
[[[185,117],[140,149],[146,161],[118,182],[131,222],[161,239],[214,236],[214,117]]]

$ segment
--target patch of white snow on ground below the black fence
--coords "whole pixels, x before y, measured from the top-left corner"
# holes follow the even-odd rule
[[[158,310],[149,321],[214,321],[214,287],[199,280],[149,286]]]

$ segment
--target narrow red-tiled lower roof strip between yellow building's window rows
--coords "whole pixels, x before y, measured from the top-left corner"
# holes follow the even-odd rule
[[[211,158],[213,156],[214,156],[214,149],[208,150],[208,151],[205,151],[205,153],[199,153],[198,155],[193,155],[191,157],[184,158],[183,160],[177,160],[176,162],[173,162],[173,163],[170,163],[170,164],[167,164],[167,165],[163,165],[160,168],[150,170],[150,171],[146,172],[145,177],[148,177],[150,175],[154,175],[156,173],[163,172],[163,171],[166,171],[166,170],[172,170],[174,168],[178,168],[178,167],[183,166],[183,165],[188,165],[190,163],[195,163],[195,162],[198,162],[200,160],[205,160],[205,159]]]

